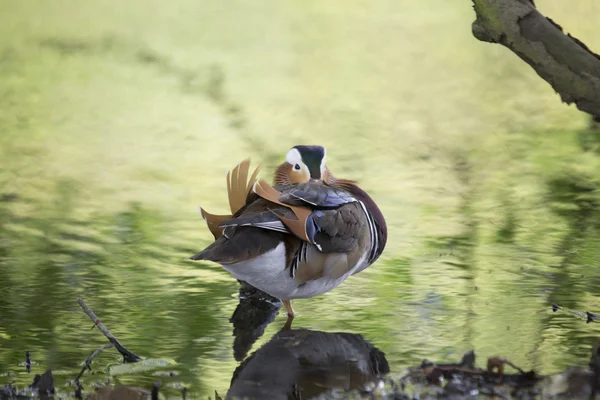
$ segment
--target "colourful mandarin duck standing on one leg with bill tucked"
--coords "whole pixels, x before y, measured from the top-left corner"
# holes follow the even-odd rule
[[[215,241],[190,257],[220,264],[234,278],[292,300],[336,288],[372,265],[387,242],[385,218],[356,181],[336,178],[326,149],[297,145],[274,172],[273,185],[250,174],[250,160],[227,172],[231,214],[200,208]]]

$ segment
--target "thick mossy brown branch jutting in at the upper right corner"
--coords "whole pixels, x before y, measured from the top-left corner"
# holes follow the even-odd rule
[[[473,35],[499,43],[529,64],[560,95],[600,120],[600,56],[544,17],[533,0],[472,0]],[[590,18],[594,18],[590,16]]]

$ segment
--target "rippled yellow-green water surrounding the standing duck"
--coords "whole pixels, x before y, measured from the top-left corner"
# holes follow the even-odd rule
[[[538,0],[600,50],[600,5]],[[238,283],[187,261],[226,212],[225,172],[295,144],[380,205],[380,260],[298,300],[298,328],[360,333],[393,372],[471,348],[586,364],[600,311],[600,133],[468,1],[0,0],[0,384],[57,386],[105,343],[83,297],[165,379],[224,394]],[[253,349],[283,325],[283,313]],[[107,378],[114,350],[85,387]],[[172,389],[173,396],[178,392]]]

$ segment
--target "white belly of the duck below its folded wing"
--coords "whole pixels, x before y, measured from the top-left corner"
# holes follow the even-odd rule
[[[362,257],[348,273],[337,279],[326,277],[299,284],[290,275],[285,265],[285,244],[250,261],[223,265],[236,279],[248,282],[252,286],[282,300],[308,298],[326,293],[339,286],[346,278],[359,270],[365,262]]]

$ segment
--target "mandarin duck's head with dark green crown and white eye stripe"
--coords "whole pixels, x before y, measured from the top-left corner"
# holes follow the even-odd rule
[[[327,182],[325,166],[327,151],[323,146],[294,146],[285,156],[285,162],[275,171],[275,184]]]

